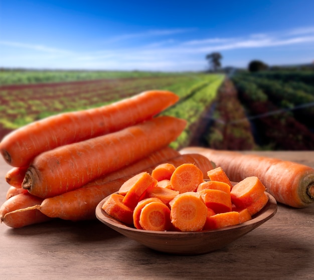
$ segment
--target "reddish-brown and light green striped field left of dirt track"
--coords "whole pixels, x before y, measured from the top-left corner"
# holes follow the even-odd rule
[[[115,78],[0,86],[0,138],[14,129],[54,114],[99,107],[149,89],[167,89],[179,95],[180,102],[163,114],[188,120],[186,131],[173,143],[175,148],[183,147],[189,143],[193,124],[216,98],[217,89],[224,79],[222,74],[146,73],[133,77],[134,73],[130,72],[130,76],[123,73],[123,78],[119,73],[115,74]],[[113,77],[114,73],[110,76]]]

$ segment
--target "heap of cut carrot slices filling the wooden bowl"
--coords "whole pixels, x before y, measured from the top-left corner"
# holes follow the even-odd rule
[[[193,163],[163,163],[125,181],[102,210],[140,230],[196,232],[249,221],[269,200],[255,176],[233,185],[221,167],[207,175]]]

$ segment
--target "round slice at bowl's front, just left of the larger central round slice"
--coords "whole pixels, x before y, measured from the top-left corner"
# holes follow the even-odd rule
[[[144,230],[169,230],[171,228],[170,209],[162,202],[150,202],[141,210],[139,224]]]

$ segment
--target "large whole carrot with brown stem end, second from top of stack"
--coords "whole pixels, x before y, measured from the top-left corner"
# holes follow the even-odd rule
[[[174,141],[186,121],[162,116],[118,132],[46,151],[29,166],[22,187],[40,198],[80,188]]]

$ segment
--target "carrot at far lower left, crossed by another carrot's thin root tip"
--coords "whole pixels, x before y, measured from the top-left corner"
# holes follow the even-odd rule
[[[32,196],[29,193],[16,195],[7,201],[0,208],[0,220],[12,228],[20,228],[32,224],[42,223],[51,220],[51,218],[42,214],[39,210],[29,210],[19,212],[19,209],[25,209],[40,204],[42,199]]]

